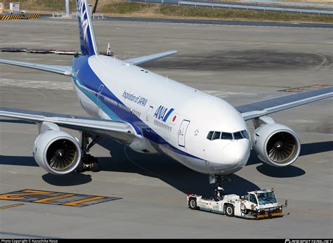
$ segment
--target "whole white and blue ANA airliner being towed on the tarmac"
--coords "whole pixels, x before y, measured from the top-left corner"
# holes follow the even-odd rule
[[[322,88],[234,107],[138,65],[174,55],[166,51],[119,60],[100,55],[87,0],[77,0],[81,55],[71,66],[0,59],[0,63],[72,78],[81,106],[91,117],[0,107],[0,116],[37,124],[33,156],[48,173],[98,171],[89,150],[100,138],[116,140],[136,152],[161,153],[207,174],[209,183],[242,169],[253,149],[262,162],[283,167],[299,157],[301,142],[291,128],[268,116],[333,96]],[[250,136],[246,121],[252,120]],[[80,131],[80,138],[60,127]],[[91,142],[89,142],[91,140]]]

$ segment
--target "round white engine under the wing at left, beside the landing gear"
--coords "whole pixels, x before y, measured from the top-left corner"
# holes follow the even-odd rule
[[[79,165],[81,148],[79,142],[69,133],[60,129],[48,129],[34,141],[33,155],[41,168],[55,175],[65,175]]]

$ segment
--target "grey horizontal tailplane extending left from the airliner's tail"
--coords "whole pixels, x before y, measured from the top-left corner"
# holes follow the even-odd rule
[[[38,64],[38,63],[25,63],[25,62],[18,62],[18,61],[5,60],[5,59],[0,59],[0,63],[20,66],[20,67],[28,67],[28,68],[32,68],[32,69],[35,69],[35,70],[53,72],[53,73],[56,73],[56,74],[62,74],[62,75],[66,75],[66,76],[72,76],[72,69],[70,68],[70,66],[45,65],[45,64]]]

